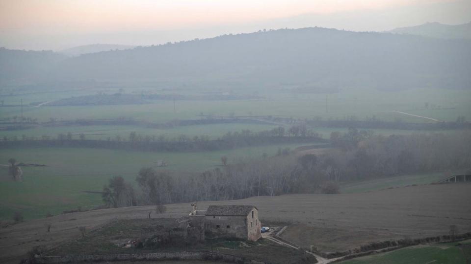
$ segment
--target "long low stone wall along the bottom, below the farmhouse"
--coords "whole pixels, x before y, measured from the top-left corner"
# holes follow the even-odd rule
[[[107,254],[107,255],[68,255],[40,256],[35,258],[38,264],[83,263],[83,262],[116,262],[116,261],[162,261],[162,260],[214,260],[228,263],[265,264],[245,258],[211,252],[159,252],[141,254]]]

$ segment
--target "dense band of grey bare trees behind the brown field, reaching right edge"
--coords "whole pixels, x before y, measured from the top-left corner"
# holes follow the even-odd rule
[[[340,181],[471,169],[471,132],[374,136],[350,130],[332,136],[340,148],[322,154],[285,153],[240,159],[192,176],[143,168],[139,192],[122,191],[113,206],[240,199],[292,193],[337,193]],[[115,192],[114,180],[105,187]],[[119,186],[128,186],[122,180]],[[120,190],[126,190],[121,187]],[[105,190],[105,189],[104,189]],[[133,198],[128,196],[132,195]]]

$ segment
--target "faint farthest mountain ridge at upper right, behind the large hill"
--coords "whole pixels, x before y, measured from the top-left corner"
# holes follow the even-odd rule
[[[446,25],[439,22],[432,22],[417,26],[395,28],[389,32],[395,34],[410,34],[443,39],[471,40],[471,22],[460,25]]]

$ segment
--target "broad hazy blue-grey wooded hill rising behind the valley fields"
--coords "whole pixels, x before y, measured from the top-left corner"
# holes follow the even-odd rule
[[[0,59],[2,53],[15,52],[0,50]],[[154,80],[160,88],[180,84],[195,89],[471,88],[470,40],[320,27],[223,35],[60,60],[57,53],[48,54],[54,60],[45,61],[40,76],[54,84]],[[21,62],[15,65],[14,76],[31,76],[21,74]],[[0,60],[2,68],[15,71]],[[0,74],[0,83],[10,75]]]

